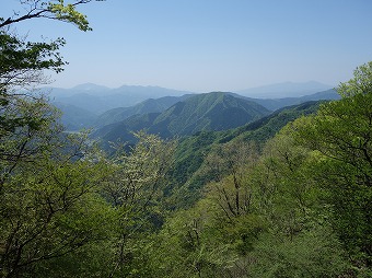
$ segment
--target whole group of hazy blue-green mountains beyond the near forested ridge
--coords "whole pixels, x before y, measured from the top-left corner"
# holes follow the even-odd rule
[[[51,89],[50,99],[62,111],[67,130],[94,128],[96,137],[114,140],[132,138],[131,131],[143,128],[163,137],[235,128],[284,106],[338,99],[329,88],[315,81],[286,82],[239,93],[196,94],[160,86],[109,89],[86,83]],[[269,97],[275,95],[288,97]]]

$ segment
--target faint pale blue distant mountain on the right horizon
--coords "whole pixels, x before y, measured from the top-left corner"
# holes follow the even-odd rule
[[[243,96],[255,99],[283,99],[300,97],[317,92],[333,89],[334,86],[323,84],[316,81],[309,82],[283,82],[265,86],[251,88],[246,90],[235,91]]]

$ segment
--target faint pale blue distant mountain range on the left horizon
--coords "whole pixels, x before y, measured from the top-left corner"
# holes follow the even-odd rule
[[[45,88],[44,91],[50,92],[51,102],[74,105],[94,114],[101,114],[117,107],[133,106],[148,99],[191,94],[191,92],[187,91],[160,86],[124,85],[117,89],[108,89],[92,83],[81,84],[71,89]]]

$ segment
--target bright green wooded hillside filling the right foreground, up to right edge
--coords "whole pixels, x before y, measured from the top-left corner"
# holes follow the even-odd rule
[[[242,132],[204,153],[209,183],[156,235],[156,275],[371,277],[372,62],[354,76],[261,147]]]

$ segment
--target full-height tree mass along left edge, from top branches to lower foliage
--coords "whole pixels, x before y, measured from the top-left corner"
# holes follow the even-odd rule
[[[67,136],[58,112],[32,91],[46,69],[60,72],[65,42],[32,43],[12,26],[30,19],[90,30],[85,1],[20,1],[25,14],[0,19],[0,275],[39,276],[45,262],[103,238],[109,207],[97,194],[105,172],[84,135]],[[107,172],[107,171],[106,171]],[[104,173],[104,174],[103,174]]]

